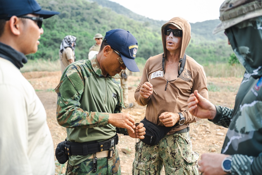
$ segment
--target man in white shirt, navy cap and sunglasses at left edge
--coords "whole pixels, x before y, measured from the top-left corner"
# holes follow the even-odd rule
[[[46,112],[20,68],[39,45],[43,18],[34,0],[0,0],[0,171],[54,174],[54,147]]]

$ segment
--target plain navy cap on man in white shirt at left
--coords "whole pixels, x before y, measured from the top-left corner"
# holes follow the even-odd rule
[[[46,19],[59,12],[42,10],[35,0],[0,0],[0,19],[26,14],[39,14]]]

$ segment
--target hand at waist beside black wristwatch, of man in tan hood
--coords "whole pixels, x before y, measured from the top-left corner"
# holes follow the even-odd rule
[[[172,112],[163,112],[159,116],[159,120],[166,126],[174,126],[178,121],[180,117],[178,113],[172,113]]]

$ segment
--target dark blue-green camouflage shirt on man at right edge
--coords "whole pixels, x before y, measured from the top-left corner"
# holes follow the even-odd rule
[[[233,109],[216,106],[212,120],[228,128],[221,153],[233,155],[232,174],[261,174],[262,165],[262,78],[254,79],[249,73],[236,96]]]

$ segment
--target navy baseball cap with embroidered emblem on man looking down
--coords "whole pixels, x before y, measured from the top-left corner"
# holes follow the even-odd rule
[[[128,70],[132,72],[139,72],[137,63],[135,63],[138,43],[129,31],[123,29],[110,30],[106,32],[104,41],[120,53],[125,67],[127,67]]]

